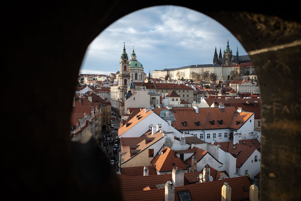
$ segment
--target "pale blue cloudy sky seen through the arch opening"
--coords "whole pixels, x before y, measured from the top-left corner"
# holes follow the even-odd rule
[[[132,12],[115,21],[88,46],[79,74],[109,75],[120,71],[125,45],[148,75],[154,70],[196,64],[213,64],[215,48],[229,47],[247,55],[240,42],[219,22],[200,12],[179,6],[154,6]]]

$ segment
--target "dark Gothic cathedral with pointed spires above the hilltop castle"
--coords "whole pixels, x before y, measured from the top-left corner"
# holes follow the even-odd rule
[[[224,50],[224,55],[222,56],[222,50],[219,49],[219,55],[217,55],[216,47],[213,56],[213,64],[219,65],[233,65],[251,62],[249,55],[238,56],[238,47],[236,49],[236,55],[232,55],[232,50],[229,46],[229,38],[227,41],[227,48]]]

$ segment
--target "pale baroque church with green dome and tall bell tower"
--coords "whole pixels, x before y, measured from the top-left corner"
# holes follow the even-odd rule
[[[137,60],[136,54],[133,52],[129,59],[128,54],[126,53],[125,42],[123,45],[123,52],[120,57],[120,70],[119,74],[116,74],[117,83],[114,86],[111,86],[111,104],[112,110],[119,114],[120,103],[124,101],[126,94],[129,92],[135,92],[134,83],[144,83],[146,74],[144,73],[143,65]],[[137,87],[136,90],[139,90],[141,87]],[[129,94],[128,94],[129,96]]]

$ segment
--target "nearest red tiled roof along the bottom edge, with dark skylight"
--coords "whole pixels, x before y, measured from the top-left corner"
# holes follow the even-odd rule
[[[147,177],[147,178],[146,178]],[[152,178],[154,177],[154,178]],[[144,201],[164,201],[165,200],[165,188],[158,189],[155,185],[150,186],[152,190],[139,190],[133,191],[131,190],[134,185],[140,185],[140,189],[145,185],[148,187],[149,185],[144,184],[144,181],[153,181],[156,177],[162,177],[162,180],[159,183],[155,184],[164,184],[172,180],[172,174],[163,174],[156,176],[145,176],[138,179],[138,177],[134,177],[134,181],[130,181],[129,177],[119,175],[121,181],[121,187],[126,186],[129,191],[125,191],[122,189],[123,201],[135,201],[135,200],[144,200]],[[154,182],[154,181],[153,181]],[[178,201],[178,192],[189,190],[192,200],[202,200],[202,201],[212,201],[212,200],[221,200],[222,195],[222,187],[224,182],[227,182],[231,187],[231,200],[242,200],[248,199],[250,194],[250,186],[252,185],[250,178],[246,176],[234,177],[221,179],[217,181],[210,181],[204,183],[196,183],[190,185],[184,185],[175,187],[175,201]],[[134,184],[134,185],[132,185]],[[246,191],[244,188],[246,187]]]

